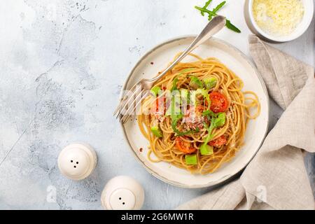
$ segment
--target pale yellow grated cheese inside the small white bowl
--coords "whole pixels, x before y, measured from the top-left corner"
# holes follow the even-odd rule
[[[301,0],[253,0],[252,10],[258,27],[277,36],[291,34],[304,15]]]

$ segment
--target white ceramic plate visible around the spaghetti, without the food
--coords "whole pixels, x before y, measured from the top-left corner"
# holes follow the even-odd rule
[[[123,90],[129,90],[141,78],[153,78],[158,71],[165,69],[176,53],[185,50],[193,41],[194,36],[175,38],[162,43],[142,57],[132,69]],[[243,81],[243,90],[252,90],[258,94],[261,104],[260,116],[250,120],[244,139],[245,145],[235,158],[225,163],[213,174],[190,174],[185,169],[179,169],[167,162],[151,162],[147,158],[148,141],[142,136],[137,121],[130,119],[123,125],[127,142],[130,144],[136,158],[154,176],[174,186],[183,188],[204,188],[214,186],[234,176],[244,169],[257,153],[262,141],[265,139],[269,120],[269,99],[267,89],[255,66],[241,51],[218,38],[211,38],[193,51],[201,57],[216,57],[234,71]],[[183,61],[193,61],[186,57]],[[151,63],[153,62],[153,63]],[[143,148],[141,152],[139,149]]]

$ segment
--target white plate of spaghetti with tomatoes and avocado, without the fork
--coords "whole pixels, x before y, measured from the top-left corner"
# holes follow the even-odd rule
[[[193,38],[153,48],[123,90],[156,76]],[[269,99],[246,55],[211,38],[158,80],[135,112],[123,130],[148,172],[175,186],[203,188],[234,176],[257,153],[267,133]]]

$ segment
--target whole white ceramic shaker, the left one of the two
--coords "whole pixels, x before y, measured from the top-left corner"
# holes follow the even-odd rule
[[[66,146],[59,153],[58,167],[64,176],[79,181],[89,176],[97,164],[97,155],[88,144]]]

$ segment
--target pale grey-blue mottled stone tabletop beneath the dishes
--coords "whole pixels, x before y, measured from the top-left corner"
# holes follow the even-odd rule
[[[205,0],[15,0],[0,7],[0,209],[102,209],[109,179],[144,185],[144,209],[174,209],[211,189],[182,189],[148,174],[112,116],[132,66],[153,46],[207,24],[194,6]],[[214,3],[220,1],[214,0]],[[221,10],[241,29],[216,35],[248,55],[244,1]],[[314,20],[289,43],[276,44],[314,65]],[[271,127],[281,109],[271,102]],[[98,155],[84,181],[60,174],[57,156],[73,141]],[[314,154],[306,165],[314,189]]]

